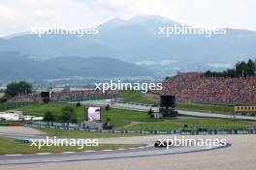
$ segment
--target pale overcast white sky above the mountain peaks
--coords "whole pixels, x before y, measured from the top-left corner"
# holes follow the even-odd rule
[[[162,15],[197,27],[256,31],[255,0],[0,0],[0,36],[47,24],[92,26],[135,15]]]

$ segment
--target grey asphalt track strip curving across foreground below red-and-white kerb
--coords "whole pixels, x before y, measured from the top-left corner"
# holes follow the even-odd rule
[[[217,149],[217,148],[214,148]],[[82,152],[80,154],[56,154],[56,155],[33,155],[33,156],[3,156],[0,158],[0,165],[11,164],[30,164],[30,163],[48,163],[48,162],[65,162],[65,161],[84,161],[84,160],[100,160],[125,157],[141,157],[141,156],[162,156],[185,154],[193,152],[202,152],[208,150],[205,147],[182,147],[172,149],[156,149],[153,147],[144,149],[128,149],[124,151],[101,151],[95,153]],[[212,149],[211,149],[212,150]]]

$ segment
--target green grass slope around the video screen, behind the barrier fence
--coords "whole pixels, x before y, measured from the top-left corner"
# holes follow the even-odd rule
[[[71,104],[65,103],[48,103],[48,104],[34,104],[18,108],[24,114],[31,114],[35,116],[44,116],[46,111],[51,111],[53,114],[60,114],[62,107]],[[83,107],[73,106],[80,122],[83,121],[84,109]],[[177,117],[165,120],[150,119],[144,112],[128,111],[111,109],[106,111],[102,109],[101,119],[104,122],[107,118],[111,119],[111,124],[117,129],[156,129],[156,130],[171,130],[183,129],[187,125],[187,129],[208,128],[208,129],[230,129],[230,128],[251,128],[256,127],[255,122],[234,122],[233,120],[222,119],[207,119],[207,118],[189,118]],[[49,131],[48,131],[49,132]],[[53,131],[52,135],[60,135],[63,131]],[[72,131],[74,132],[74,131]],[[82,131],[82,135],[84,132]],[[72,135],[72,134],[68,134]],[[96,134],[97,135],[97,134]],[[108,136],[109,134],[107,134]],[[65,137],[65,136],[63,136]],[[104,137],[104,136],[103,136]],[[113,136],[114,137],[114,136]]]

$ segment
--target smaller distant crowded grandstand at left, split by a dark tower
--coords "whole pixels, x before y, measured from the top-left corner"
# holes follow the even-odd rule
[[[95,90],[86,90],[86,91],[74,91],[74,92],[58,92],[51,93],[52,101],[61,101],[61,100],[82,100],[82,99],[92,99],[92,98],[101,98],[101,97],[115,97],[117,95],[116,91],[102,91]],[[29,94],[29,95],[19,95],[13,99],[10,99],[9,102],[40,102],[43,99],[38,93]]]

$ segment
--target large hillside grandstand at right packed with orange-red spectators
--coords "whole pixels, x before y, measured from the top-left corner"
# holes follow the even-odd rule
[[[197,72],[178,73],[163,82],[165,95],[178,101],[212,104],[255,104],[256,77],[203,77]]]

